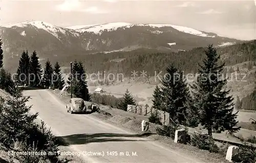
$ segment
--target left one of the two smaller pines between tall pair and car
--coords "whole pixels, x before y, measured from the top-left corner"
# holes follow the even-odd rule
[[[46,62],[46,67],[44,69],[44,84],[46,86],[46,88],[49,88],[53,85],[53,68],[51,65],[51,62],[49,61],[49,59]]]

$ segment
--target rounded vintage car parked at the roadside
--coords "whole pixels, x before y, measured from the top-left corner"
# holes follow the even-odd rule
[[[66,106],[68,113],[86,113],[86,105],[81,98],[71,98]]]

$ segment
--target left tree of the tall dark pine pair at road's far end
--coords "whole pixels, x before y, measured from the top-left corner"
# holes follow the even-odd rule
[[[25,52],[23,51],[22,57],[20,57],[17,75],[18,75],[18,83],[19,84],[29,84],[29,66],[30,59],[29,59],[29,52],[28,50]]]

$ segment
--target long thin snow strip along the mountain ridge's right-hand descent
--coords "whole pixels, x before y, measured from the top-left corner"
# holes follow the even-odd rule
[[[140,24],[140,26],[143,26]],[[178,30],[180,32],[192,34],[192,35],[197,35],[197,36],[202,36],[202,37],[215,37],[215,36],[209,36],[201,31],[191,29],[185,26],[180,26],[180,25],[172,25],[172,24],[145,24],[144,26],[151,26],[152,28],[162,28],[164,26],[169,26],[174,28],[175,30]]]

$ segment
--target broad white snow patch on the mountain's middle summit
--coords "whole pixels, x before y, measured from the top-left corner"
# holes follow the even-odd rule
[[[113,22],[113,23],[105,23],[99,25],[89,26],[83,29],[77,30],[78,32],[93,32],[95,34],[101,34],[104,30],[106,31],[115,31],[118,28],[130,28],[133,26],[131,23],[126,22]]]

